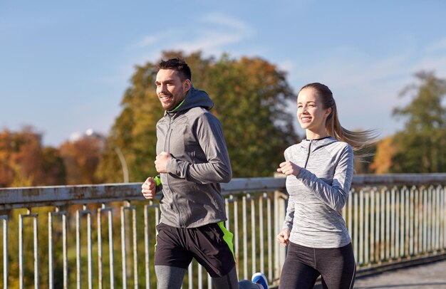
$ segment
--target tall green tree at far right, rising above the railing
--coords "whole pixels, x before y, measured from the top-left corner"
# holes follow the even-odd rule
[[[430,173],[446,171],[446,80],[432,72],[415,74],[418,83],[408,85],[401,95],[412,95],[405,107],[393,110],[405,117],[405,130],[393,137],[395,154],[391,172]]]

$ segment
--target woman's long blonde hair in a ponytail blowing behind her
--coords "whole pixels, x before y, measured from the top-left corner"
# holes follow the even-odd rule
[[[326,132],[330,137],[334,137],[336,140],[341,140],[350,144],[354,150],[363,149],[368,147],[370,144],[376,142],[376,137],[378,137],[378,132],[376,130],[361,130],[358,132],[353,132],[352,130],[347,130],[342,127],[341,122],[338,118],[338,110],[336,108],[336,102],[333,98],[333,93],[331,93],[328,86],[322,83],[308,83],[304,85],[301,90],[305,88],[312,88],[316,90],[319,95],[323,108],[331,108],[330,115],[328,115],[326,120]],[[299,93],[301,92],[299,90]],[[365,157],[363,155],[362,157]]]

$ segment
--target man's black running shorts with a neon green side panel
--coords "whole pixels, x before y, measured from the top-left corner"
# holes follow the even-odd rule
[[[234,268],[233,234],[223,222],[198,228],[157,225],[155,266],[185,268],[195,258],[211,277],[222,277]]]

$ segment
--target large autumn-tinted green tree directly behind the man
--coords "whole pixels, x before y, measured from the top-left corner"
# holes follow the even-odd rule
[[[185,55],[166,51],[162,59],[180,57],[192,69],[192,83],[214,100],[212,113],[222,122],[231,157],[234,177],[271,176],[283,152],[298,141],[293,127],[294,115],[287,107],[296,95],[286,81],[286,73],[261,58],[205,58],[202,53]],[[130,88],[116,118],[108,148],[101,157],[98,176],[105,182],[122,179],[117,145],[128,163],[130,182],[141,182],[156,174],[156,122],[163,115],[155,94],[157,63],[135,68]]]

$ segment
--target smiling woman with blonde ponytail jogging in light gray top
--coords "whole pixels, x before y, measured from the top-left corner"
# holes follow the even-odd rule
[[[331,90],[310,83],[299,91],[297,118],[306,140],[285,150],[277,172],[286,174],[289,202],[277,241],[288,246],[279,288],[353,288],[356,264],[341,209],[353,178],[353,149],[375,131],[341,126]]]

